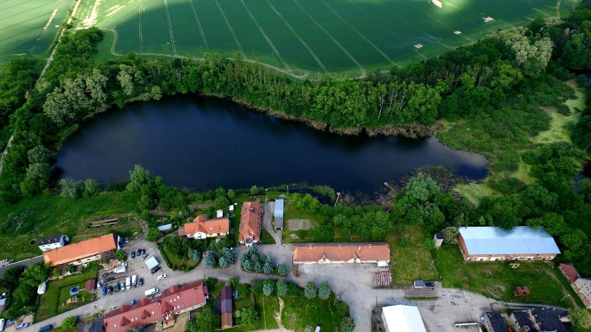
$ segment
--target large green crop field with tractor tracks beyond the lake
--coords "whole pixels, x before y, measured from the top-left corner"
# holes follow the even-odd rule
[[[469,44],[535,17],[566,15],[574,0],[88,0],[78,28],[110,30],[99,57],[243,58],[294,77],[365,76]]]

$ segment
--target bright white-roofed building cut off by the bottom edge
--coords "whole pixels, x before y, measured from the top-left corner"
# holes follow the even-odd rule
[[[386,332],[427,332],[416,306],[384,306],[382,322]]]

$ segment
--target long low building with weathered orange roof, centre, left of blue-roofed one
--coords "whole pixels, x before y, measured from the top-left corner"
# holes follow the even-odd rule
[[[377,263],[388,266],[390,245],[384,242],[294,244],[294,264]]]

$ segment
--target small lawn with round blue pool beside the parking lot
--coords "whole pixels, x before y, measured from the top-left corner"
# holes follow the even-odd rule
[[[39,309],[35,314],[35,322],[46,320],[72,308],[76,308],[83,304],[92,301],[94,294],[85,292],[84,287],[88,279],[96,278],[96,271],[84,272],[81,274],[74,274],[73,276],[65,277],[63,279],[51,280],[47,283],[47,290],[44,295],[41,295],[39,302]],[[83,297],[83,301],[76,302],[72,306],[62,306],[64,302],[70,297],[70,288],[74,286],[80,287],[80,292],[77,295]]]

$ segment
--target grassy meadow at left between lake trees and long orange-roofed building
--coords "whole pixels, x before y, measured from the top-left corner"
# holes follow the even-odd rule
[[[0,205],[0,259],[19,261],[41,254],[37,245],[29,245],[33,239],[52,234],[67,234],[71,241],[108,234],[110,231],[138,231],[135,222],[119,222],[114,227],[98,227],[92,231],[81,227],[94,217],[113,216],[134,212],[139,196],[128,192],[110,192],[93,198],[71,200],[52,195],[36,195],[19,202]]]

